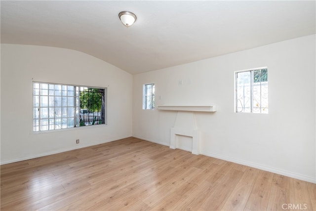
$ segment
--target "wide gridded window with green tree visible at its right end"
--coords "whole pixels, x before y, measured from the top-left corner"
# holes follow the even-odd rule
[[[33,131],[106,124],[106,88],[33,83]]]

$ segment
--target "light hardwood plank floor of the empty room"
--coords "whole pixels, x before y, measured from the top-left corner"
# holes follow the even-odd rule
[[[130,137],[2,165],[0,208],[315,211],[316,184]]]

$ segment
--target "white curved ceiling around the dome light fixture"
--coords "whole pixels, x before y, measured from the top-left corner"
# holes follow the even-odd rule
[[[0,1],[1,43],[79,50],[131,74],[315,34],[316,1]],[[118,13],[137,21],[123,26]]]

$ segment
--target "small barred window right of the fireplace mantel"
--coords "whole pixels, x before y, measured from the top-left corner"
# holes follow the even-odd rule
[[[268,114],[268,69],[235,72],[235,112]]]

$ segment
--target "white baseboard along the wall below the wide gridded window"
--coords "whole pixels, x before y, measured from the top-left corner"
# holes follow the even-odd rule
[[[20,162],[20,161],[26,161],[26,160],[40,158],[40,157],[44,157],[44,156],[48,156],[48,155],[54,155],[54,154],[58,154],[58,153],[62,153],[62,152],[67,152],[67,151],[71,151],[71,150],[75,150],[75,149],[80,149],[80,148],[84,148],[84,147],[103,144],[103,143],[107,143],[107,142],[111,142],[111,141],[115,141],[115,140],[119,140],[119,139],[123,139],[123,138],[128,138],[128,137],[131,137],[131,136],[110,138],[110,139],[107,139],[107,140],[102,141],[102,142],[94,142],[94,143],[89,143],[89,144],[84,144],[84,145],[79,144],[79,145],[76,145],[74,147],[63,148],[63,149],[59,149],[59,150],[55,150],[55,151],[45,152],[42,154],[36,154],[36,155],[27,156],[27,157],[1,161],[0,165],[11,164],[11,163]]]

